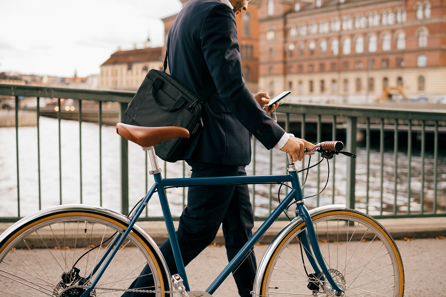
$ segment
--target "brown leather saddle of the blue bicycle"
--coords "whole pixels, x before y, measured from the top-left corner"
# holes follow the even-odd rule
[[[116,124],[116,133],[140,146],[154,146],[165,140],[189,138],[189,131],[183,127],[142,127],[124,123]]]

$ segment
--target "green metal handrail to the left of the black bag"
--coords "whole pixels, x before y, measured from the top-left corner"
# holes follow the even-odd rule
[[[129,103],[132,101],[135,94],[136,91],[93,90],[48,85],[14,85],[0,83],[0,95],[5,96],[64,98]],[[94,95],[94,97],[91,95]]]

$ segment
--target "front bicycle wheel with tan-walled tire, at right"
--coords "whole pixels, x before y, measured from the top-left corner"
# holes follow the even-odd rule
[[[376,220],[352,209],[318,213],[312,220],[326,266],[345,296],[403,296],[400,253]],[[262,260],[265,269],[256,295],[332,296],[323,274],[311,275],[314,271],[298,236],[307,236],[306,224],[296,222],[265,252],[269,257]]]

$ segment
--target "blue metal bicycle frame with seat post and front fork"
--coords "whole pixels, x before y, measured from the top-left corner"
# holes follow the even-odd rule
[[[153,147],[152,147],[153,148]],[[153,155],[150,155],[153,154]],[[282,183],[282,182],[291,182],[293,189],[289,192],[289,194],[283,199],[283,201],[276,207],[276,209],[271,213],[270,216],[264,221],[264,223],[260,226],[260,228],[252,235],[252,237],[248,240],[248,242],[243,246],[243,248],[235,255],[235,257],[227,264],[226,268],[219,274],[219,276],[212,282],[209,288],[206,289],[206,292],[212,294],[215,290],[223,283],[223,281],[229,276],[229,274],[235,269],[235,267],[244,259],[245,256],[251,251],[256,242],[260,240],[260,237],[264,235],[264,233],[268,230],[268,228],[277,220],[277,218],[281,215],[285,209],[288,208],[288,205],[294,199],[297,203],[296,207],[296,216],[301,216],[306,222],[306,228],[308,232],[308,237],[310,238],[310,243],[306,236],[301,236],[301,243],[304,246],[305,252],[307,254],[307,258],[310,261],[312,268],[314,269],[314,273],[318,275],[321,270],[324,273],[326,280],[330,283],[332,289],[334,290],[337,296],[341,296],[343,294],[343,290],[339,289],[336,282],[331,277],[326,264],[322,258],[321,251],[319,249],[318,240],[316,238],[316,233],[314,232],[314,227],[311,221],[310,214],[306,209],[303,201],[303,195],[301,191],[301,185],[299,181],[299,177],[297,175],[297,167],[294,164],[290,164],[289,174],[288,175],[266,175],[266,176],[231,176],[231,177],[202,177],[202,178],[183,178],[183,179],[163,179],[161,177],[161,169],[158,167],[156,156],[154,154],[153,149],[149,149],[149,155],[154,170],[153,176],[155,179],[155,183],[149,190],[149,192],[145,195],[145,197],[141,200],[141,202],[135,207],[135,211],[129,217],[128,228],[122,230],[124,234],[122,236],[118,235],[113,240],[112,244],[109,244],[109,248],[104,253],[102,258],[99,260],[99,263],[95,266],[95,269],[91,272],[87,279],[90,279],[96,272],[98,274],[91,282],[90,288],[88,288],[81,297],[88,297],[92,289],[95,287],[100,277],[102,276],[105,269],[107,269],[108,264],[111,262],[113,256],[115,256],[121,244],[124,242],[128,233],[132,229],[133,225],[136,223],[136,220],[144,210],[144,207],[149,202],[152,195],[155,191],[158,192],[161,209],[163,215],[165,217],[165,223],[167,227],[167,232],[169,235],[170,244],[173,250],[173,256],[175,259],[175,263],[177,265],[178,274],[183,279],[183,285],[186,287],[186,291],[190,291],[189,283],[187,281],[186,270],[184,268],[184,263],[182,260],[180,248],[178,245],[177,236],[175,233],[175,227],[173,226],[172,215],[169,209],[169,203],[167,201],[167,196],[165,193],[165,187],[188,187],[188,186],[205,186],[205,185],[235,185],[235,184],[259,184],[259,183]],[[290,157],[289,157],[290,159]],[[290,163],[290,162],[289,162]],[[290,169],[291,168],[291,169]],[[312,250],[314,252],[314,257],[312,256]],[[108,256],[110,255],[110,256]],[[108,256],[108,258],[107,258]],[[107,258],[107,259],[106,259]],[[314,260],[316,258],[316,260]],[[102,268],[100,265],[103,264]],[[99,269],[100,268],[100,269]]]

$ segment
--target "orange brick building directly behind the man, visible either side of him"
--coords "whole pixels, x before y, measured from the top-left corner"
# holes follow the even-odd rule
[[[183,6],[188,1],[189,0],[181,0]],[[250,0],[248,4],[248,11],[242,12],[235,16],[235,20],[237,22],[237,35],[240,45],[240,55],[242,58],[243,76],[246,81],[246,85],[252,93],[256,93],[258,91],[260,49],[257,8],[261,2],[261,0]],[[178,14],[162,19],[165,28],[165,41],[167,41],[169,29],[177,15]],[[165,45],[162,52],[164,55]]]

